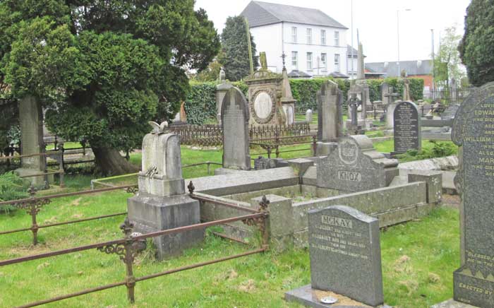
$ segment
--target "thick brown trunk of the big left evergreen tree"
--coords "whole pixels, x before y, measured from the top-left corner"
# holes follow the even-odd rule
[[[105,175],[120,175],[139,171],[139,167],[128,162],[114,148],[91,148],[92,153],[95,154],[95,164]]]

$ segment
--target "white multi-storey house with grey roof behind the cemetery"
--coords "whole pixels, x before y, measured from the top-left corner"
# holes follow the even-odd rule
[[[241,16],[248,20],[257,51],[266,52],[271,71],[281,73],[285,54],[289,76],[347,77],[351,73],[348,28],[323,11],[251,1]]]

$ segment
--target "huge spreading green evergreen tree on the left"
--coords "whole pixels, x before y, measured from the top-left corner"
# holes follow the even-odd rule
[[[201,70],[219,37],[194,0],[1,0],[0,78],[33,95],[47,124],[85,138],[107,174],[131,172],[119,150],[138,148],[149,120],[185,99],[186,69]]]

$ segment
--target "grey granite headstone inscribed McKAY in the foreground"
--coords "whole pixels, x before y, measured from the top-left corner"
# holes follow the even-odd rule
[[[379,220],[348,206],[308,212],[313,289],[382,304]]]

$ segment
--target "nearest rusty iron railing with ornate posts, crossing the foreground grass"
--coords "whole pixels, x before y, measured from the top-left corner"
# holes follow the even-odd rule
[[[204,199],[203,197],[200,196],[195,196],[193,193],[193,184],[189,184],[188,186],[189,189],[189,194],[191,197],[195,199]],[[8,259],[4,261],[0,261],[0,267],[1,266],[8,266],[11,264],[16,264],[16,263],[23,263],[27,261],[32,261],[32,260],[37,260],[37,259],[44,259],[44,258],[49,258],[53,256],[60,256],[64,254],[71,254],[73,252],[77,251],[86,251],[90,249],[97,249],[98,251],[104,252],[105,254],[116,254],[117,256],[120,257],[120,259],[123,261],[123,263],[126,266],[126,278],[125,280],[119,281],[117,283],[111,283],[108,285],[100,285],[95,288],[89,288],[85,290],[81,290],[79,292],[73,292],[71,294],[67,295],[61,295],[57,297],[52,297],[47,300],[40,300],[37,302],[31,302],[29,304],[23,304],[22,306],[19,307],[35,307],[35,306],[40,306],[42,304],[48,304],[51,302],[58,302],[61,300],[66,300],[68,298],[72,297],[78,297],[81,295],[86,295],[90,294],[92,292],[100,292],[102,290],[108,290],[111,288],[116,288],[116,287],[121,287],[125,286],[127,289],[127,298],[128,301],[131,303],[135,302],[135,295],[134,295],[134,290],[135,290],[135,285],[136,283],[144,280],[149,280],[152,278],[157,278],[161,276],[167,276],[172,273],[178,273],[180,271],[186,271],[192,268],[199,268],[202,266],[207,266],[213,263],[219,263],[223,261],[228,261],[231,259],[237,259],[241,258],[243,256],[249,256],[252,254],[260,254],[264,251],[267,251],[269,249],[268,246],[268,230],[267,230],[267,216],[269,215],[269,212],[267,211],[267,206],[269,204],[269,201],[266,199],[266,197],[263,197],[263,200],[259,204],[259,209],[256,211],[251,211],[251,209],[248,208],[242,208],[248,214],[246,215],[240,215],[236,216],[233,218],[225,218],[221,220],[214,220],[210,221],[207,223],[198,223],[195,225],[188,225],[184,227],[176,227],[174,229],[169,229],[169,230],[162,230],[162,231],[157,231],[157,232],[150,232],[147,234],[143,235],[133,235],[133,224],[126,218],[124,223],[120,226],[120,229],[123,231],[124,237],[123,239],[115,239],[109,242],[99,242],[95,244],[88,244],[80,247],[73,247],[73,248],[68,248],[68,249],[61,249],[58,251],[50,251],[47,253],[43,254],[35,254],[31,256],[23,256],[20,258],[16,259]],[[228,204],[228,203],[222,203],[224,206],[235,206],[234,204]],[[257,226],[260,230],[261,233],[261,241],[260,241],[260,247],[257,249],[249,250],[242,252],[241,254],[234,254],[232,256],[225,256],[219,259],[213,259],[210,261],[204,261],[200,263],[194,263],[188,266],[181,266],[179,268],[173,268],[169,269],[167,271],[162,271],[160,273],[154,273],[146,276],[140,276],[136,277],[133,273],[133,261],[135,259],[135,256],[137,256],[139,251],[142,251],[146,247],[146,242],[147,239],[153,238],[153,237],[159,237],[159,236],[164,236],[164,235],[174,235],[180,232],[186,232],[189,230],[200,230],[200,229],[205,229],[206,227],[212,227],[215,225],[224,225],[226,223],[233,223],[236,221],[241,221],[245,223],[246,225],[251,225],[251,226]]]

